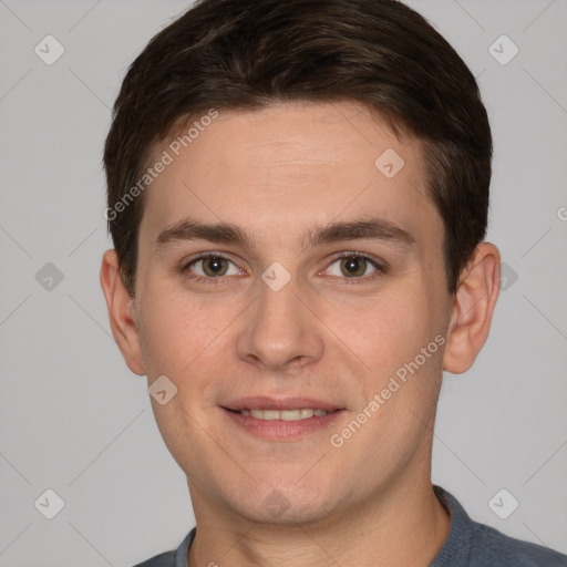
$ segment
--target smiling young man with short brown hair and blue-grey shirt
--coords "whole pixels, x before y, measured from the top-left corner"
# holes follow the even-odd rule
[[[133,63],[101,282],[196,517],[165,566],[560,566],[431,482],[499,289],[476,82],[393,0],[204,0]]]

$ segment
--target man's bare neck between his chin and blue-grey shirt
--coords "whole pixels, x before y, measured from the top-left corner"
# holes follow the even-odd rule
[[[362,505],[334,511],[319,522],[286,525],[227,514],[196,486],[189,489],[197,520],[192,567],[427,567],[451,527],[429,477],[394,482]]]

